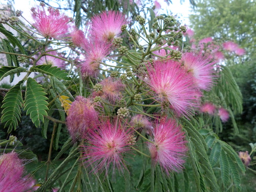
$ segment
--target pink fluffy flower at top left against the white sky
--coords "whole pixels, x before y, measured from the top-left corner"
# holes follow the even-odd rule
[[[45,7],[32,8],[32,18],[34,19],[33,26],[44,37],[61,39],[67,36],[70,27],[70,18],[59,13],[58,9],[52,7],[45,10]]]

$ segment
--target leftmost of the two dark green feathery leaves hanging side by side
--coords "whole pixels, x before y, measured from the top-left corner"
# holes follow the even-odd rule
[[[21,86],[23,81],[19,81],[16,86],[11,88],[4,97],[2,108],[3,115],[1,117],[1,122],[5,123],[5,127],[9,126],[8,133],[12,131],[12,129],[16,129],[18,125],[18,121],[20,121],[21,111],[20,108],[23,105],[22,98],[22,89]]]

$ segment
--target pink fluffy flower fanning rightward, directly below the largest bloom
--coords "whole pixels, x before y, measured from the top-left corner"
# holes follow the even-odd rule
[[[184,132],[175,120],[168,119],[157,124],[154,131],[154,143],[148,148],[154,163],[168,174],[169,171],[179,172],[185,163],[187,147]]]

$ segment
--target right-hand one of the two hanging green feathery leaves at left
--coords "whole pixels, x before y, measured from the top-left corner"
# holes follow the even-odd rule
[[[35,79],[28,78],[24,110],[36,127],[40,126],[40,120],[44,122],[44,115],[47,115],[48,98],[45,95],[44,88]]]

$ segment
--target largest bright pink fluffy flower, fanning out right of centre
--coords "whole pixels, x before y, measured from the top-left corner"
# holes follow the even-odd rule
[[[198,90],[193,77],[173,60],[155,61],[147,66],[148,76],[142,78],[160,101],[168,101],[178,115],[192,115],[197,107]],[[144,75],[145,76],[145,75]]]

